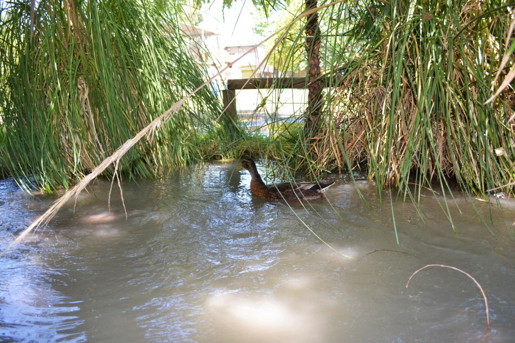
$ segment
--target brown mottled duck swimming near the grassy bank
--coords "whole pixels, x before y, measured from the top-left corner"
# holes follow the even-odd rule
[[[265,200],[287,200],[287,201],[305,201],[316,200],[325,196],[325,192],[334,185],[322,184],[318,182],[297,182],[266,185],[256,168],[256,164],[252,158],[244,158],[238,170],[247,169],[252,179],[250,180],[250,193],[260,196]]]

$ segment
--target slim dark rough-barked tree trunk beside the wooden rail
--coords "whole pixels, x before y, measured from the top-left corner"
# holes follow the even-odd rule
[[[306,0],[306,11],[317,7],[317,0]],[[306,141],[314,143],[318,136],[321,123],[322,81],[315,81],[320,76],[320,28],[318,25],[318,13],[315,12],[307,17],[306,23],[306,52],[309,66],[307,81],[307,109],[304,136]],[[313,151],[313,150],[312,150]],[[315,157],[315,156],[312,156]]]

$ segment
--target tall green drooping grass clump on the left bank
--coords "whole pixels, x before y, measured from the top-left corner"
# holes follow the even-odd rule
[[[152,2],[1,6],[0,165],[24,186],[71,187],[205,81],[179,17],[165,22],[170,16]],[[118,171],[152,177],[169,166],[231,155],[239,130],[221,112],[220,101],[200,89],[129,150]]]

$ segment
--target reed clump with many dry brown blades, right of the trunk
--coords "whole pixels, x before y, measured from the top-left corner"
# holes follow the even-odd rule
[[[512,191],[515,93],[484,104],[502,81],[505,4],[357,1],[320,17],[323,121],[311,145],[296,146],[298,170],[365,167],[379,188],[455,178],[478,194]]]

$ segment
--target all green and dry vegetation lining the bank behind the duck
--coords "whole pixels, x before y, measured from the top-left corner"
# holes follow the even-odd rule
[[[478,195],[511,194],[515,93],[501,86],[513,69],[515,4],[311,1],[316,26],[305,4],[289,8],[295,25],[271,38],[270,63],[280,60],[289,74],[307,65],[318,75],[306,80],[320,87],[305,113],[267,137],[226,116],[208,86],[196,91],[205,69],[178,27],[170,29],[179,19],[151,4],[3,5],[0,164],[20,184],[70,188],[187,97],[121,159],[123,175],[251,154],[303,177],[361,169],[380,189],[447,188],[452,179]],[[273,6],[266,3],[268,13]]]

